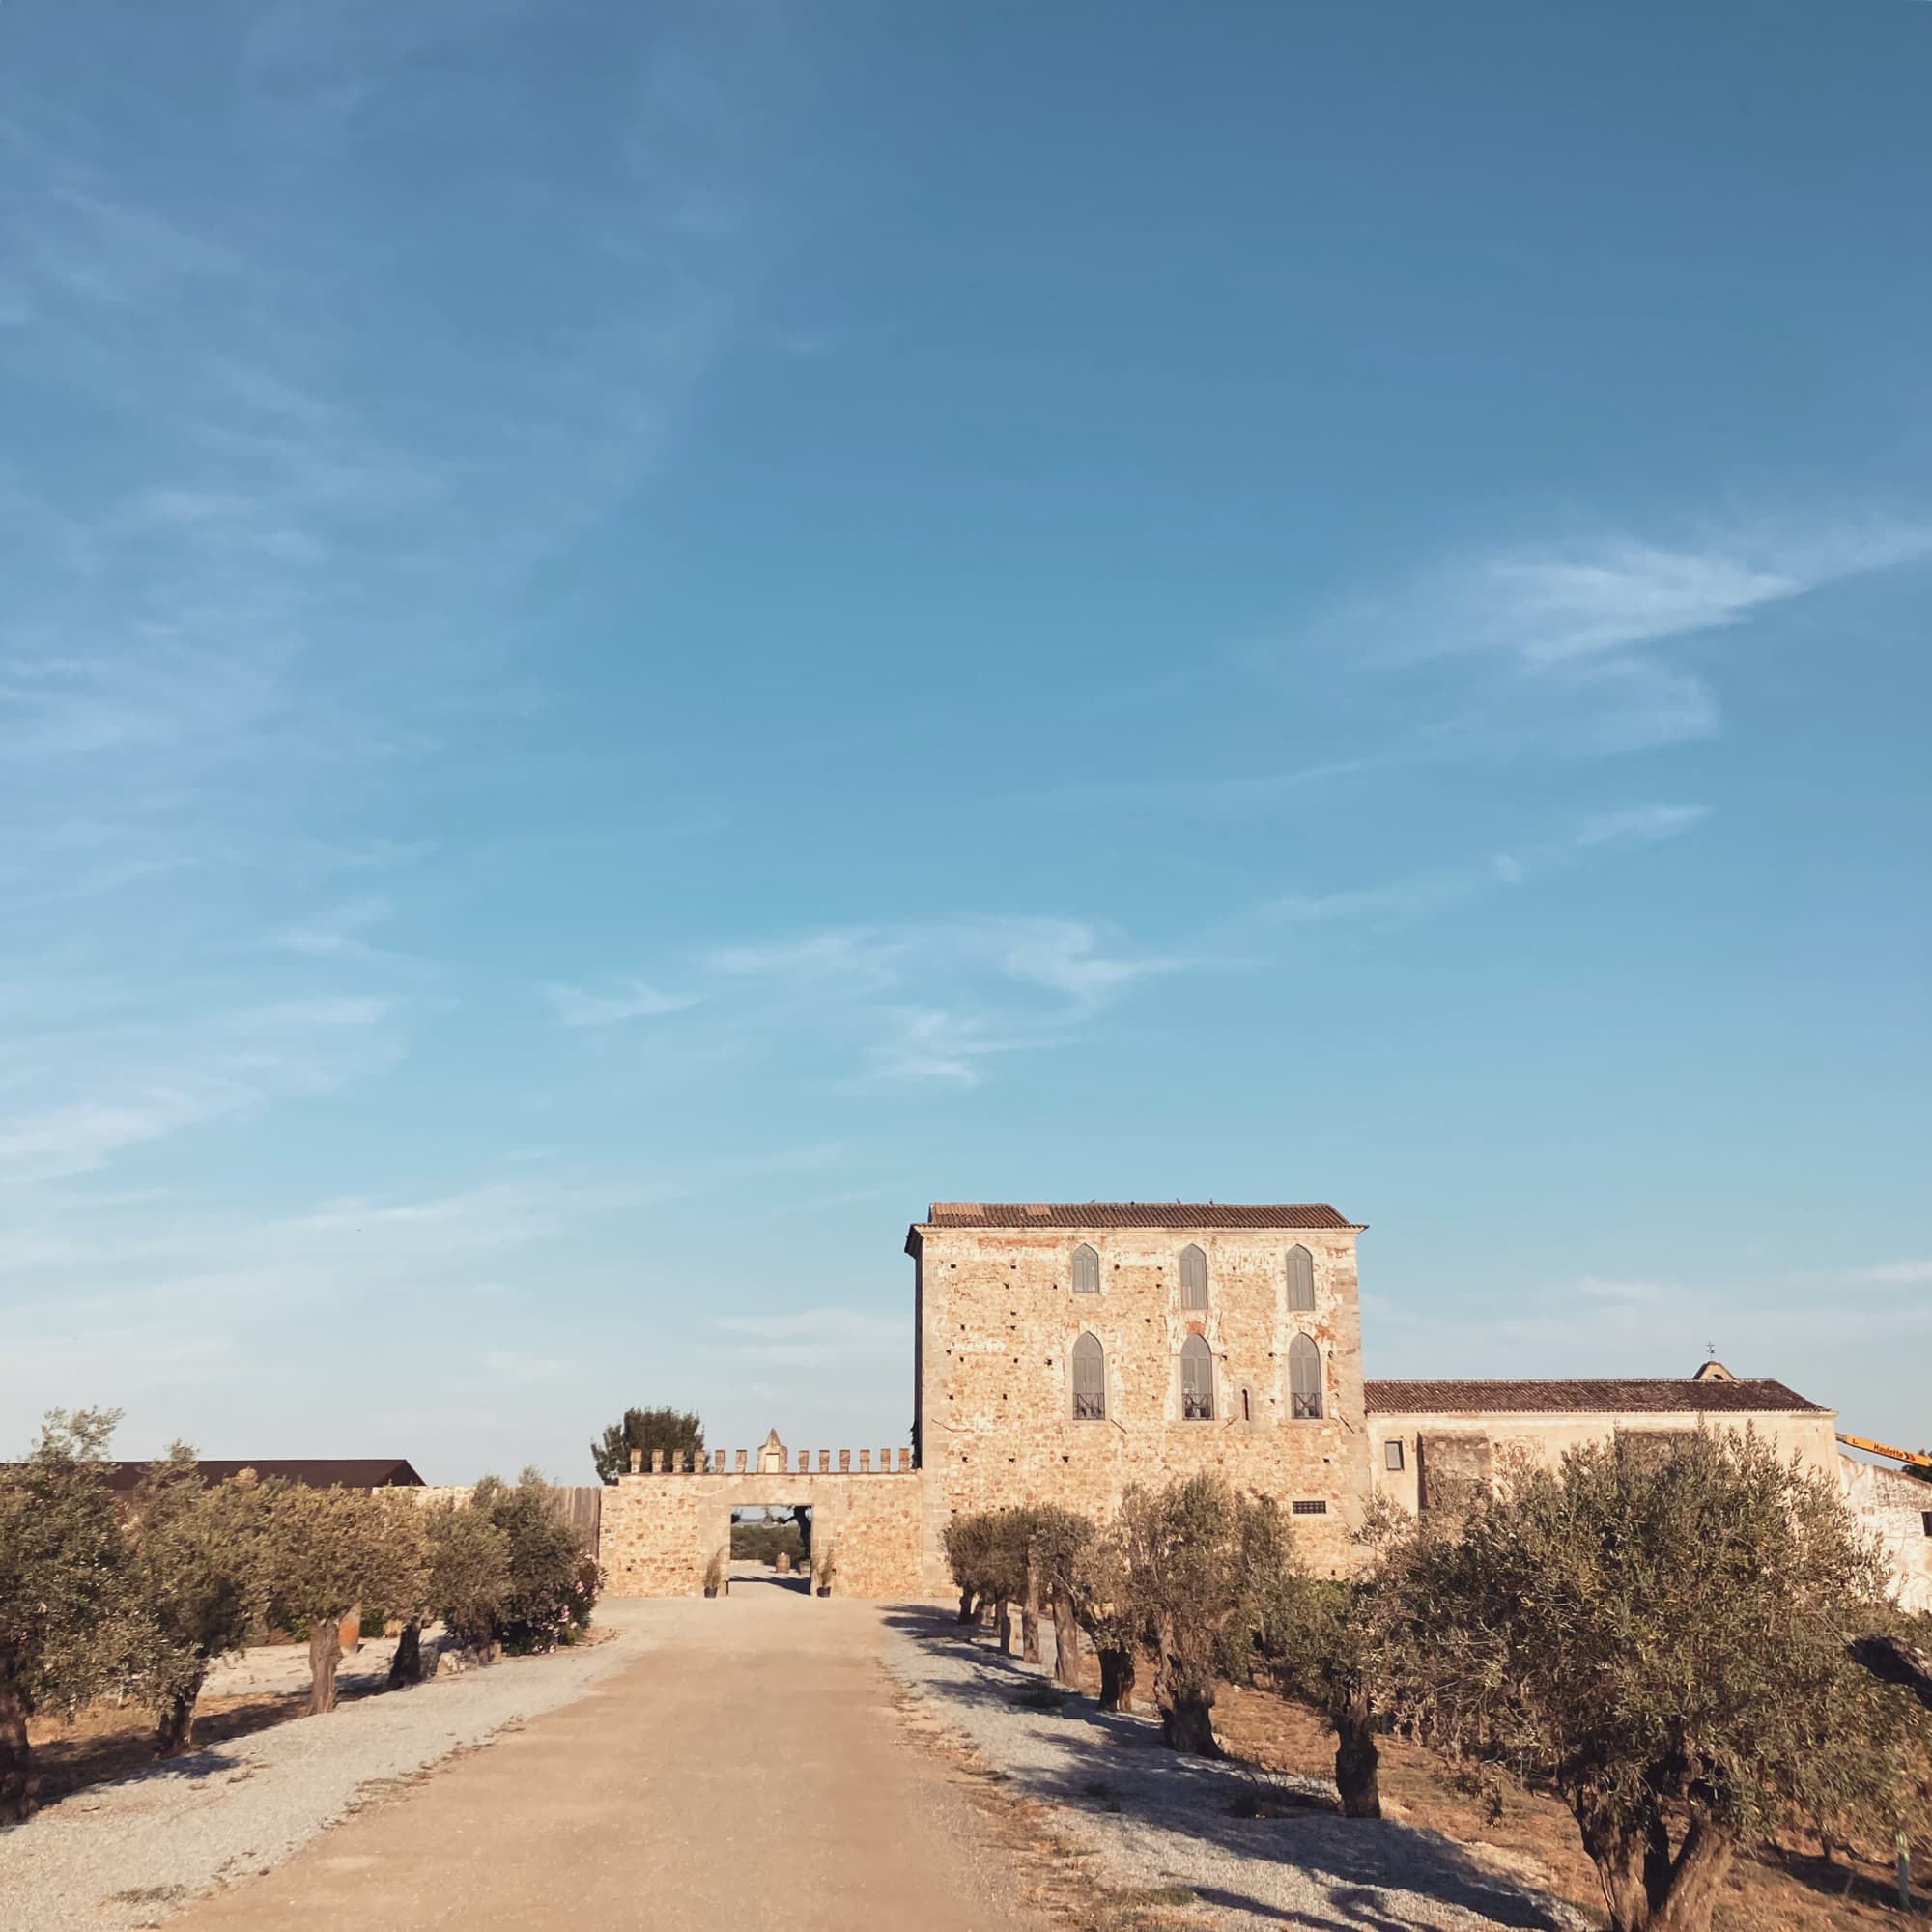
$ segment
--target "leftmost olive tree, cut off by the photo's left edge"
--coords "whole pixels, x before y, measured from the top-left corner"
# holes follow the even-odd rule
[[[128,1542],[106,1486],[120,1416],[50,1410],[25,1463],[0,1466],[0,1824],[33,1810],[27,1719],[126,1681],[139,1650]]]

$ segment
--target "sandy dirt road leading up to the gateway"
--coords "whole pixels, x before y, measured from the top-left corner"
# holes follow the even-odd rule
[[[877,1665],[879,1611],[775,1584],[178,1918],[216,1928],[1036,1928]]]

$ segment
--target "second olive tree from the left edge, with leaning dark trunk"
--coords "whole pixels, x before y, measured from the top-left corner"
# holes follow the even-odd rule
[[[253,1470],[205,1484],[174,1443],[149,1464],[128,1520],[129,1586],[143,1613],[135,1683],[158,1716],[155,1754],[193,1741],[209,1665],[263,1633],[269,1492]]]

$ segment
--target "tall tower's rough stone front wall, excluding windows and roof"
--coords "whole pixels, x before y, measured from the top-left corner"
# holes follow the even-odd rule
[[[1074,1248],[1099,1256],[1099,1293],[1072,1289]],[[1208,1308],[1180,1306],[1180,1250],[1208,1256]],[[1314,1258],[1316,1306],[1289,1310],[1287,1254]],[[1354,1231],[1188,1227],[931,1227],[918,1264],[922,1571],[947,1588],[954,1513],[1055,1501],[1095,1519],[1130,1484],[1196,1470],[1302,1503],[1308,1561],[1341,1571],[1368,1499]],[[1072,1345],[1105,1349],[1107,1416],[1074,1420]],[[1215,1372],[1211,1422],[1182,1420],[1180,1347],[1200,1333]],[[1289,1345],[1321,1354],[1321,1420],[1289,1416]],[[1246,1397],[1246,1401],[1244,1401]],[[1321,1505],[1314,1513],[1306,1505]]]

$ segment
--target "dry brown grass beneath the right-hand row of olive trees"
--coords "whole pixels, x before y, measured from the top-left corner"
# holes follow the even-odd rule
[[[1215,1731],[1236,1756],[1273,1772],[1331,1777],[1335,1737],[1300,1704],[1264,1690],[1223,1689]],[[1381,1739],[1381,1799],[1389,1816],[1453,1837],[1482,1862],[1569,1899],[1602,1920],[1596,1870],[1582,1855],[1577,1822],[1549,1797],[1503,1793],[1503,1812],[1490,1818],[1480,1797],[1457,1789],[1441,1758],[1399,1737]],[[1932,1833],[1917,1833],[1917,1891],[1932,1882]],[[1874,1864],[1843,1855],[1826,1864],[1795,1847],[1739,1859],[1716,1932],[1907,1932],[1924,1928],[1932,1911],[1918,1903],[1901,1913],[1889,1861]]]

